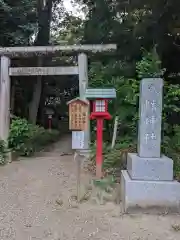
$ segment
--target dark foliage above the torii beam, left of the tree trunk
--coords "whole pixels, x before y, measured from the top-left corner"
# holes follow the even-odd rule
[[[1,0],[0,11],[0,45],[29,45],[37,27],[36,0]]]

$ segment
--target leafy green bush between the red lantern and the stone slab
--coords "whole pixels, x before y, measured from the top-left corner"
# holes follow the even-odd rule
[[[90,86],[116,89],[117,98],[109,102],[108,111],[113,116],[113,120],[115,116],[119,116],[123,134],[128,133],[132,136],[136,134],[139,81],[124,77],[126,70],[129,70],[126,62],[111,61],[106,65],[95,62],[90,68]],[[112,133],[113,120],[107,123],[110,133]]]

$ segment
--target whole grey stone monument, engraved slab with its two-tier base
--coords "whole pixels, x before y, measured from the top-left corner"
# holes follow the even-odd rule
[[[127,156],[121,173],[121,200],[125,212],[136,209],[180,209],[180,183],[173,181],[173,160],[161,155],[163,80],[140,84],[138,153]]]

